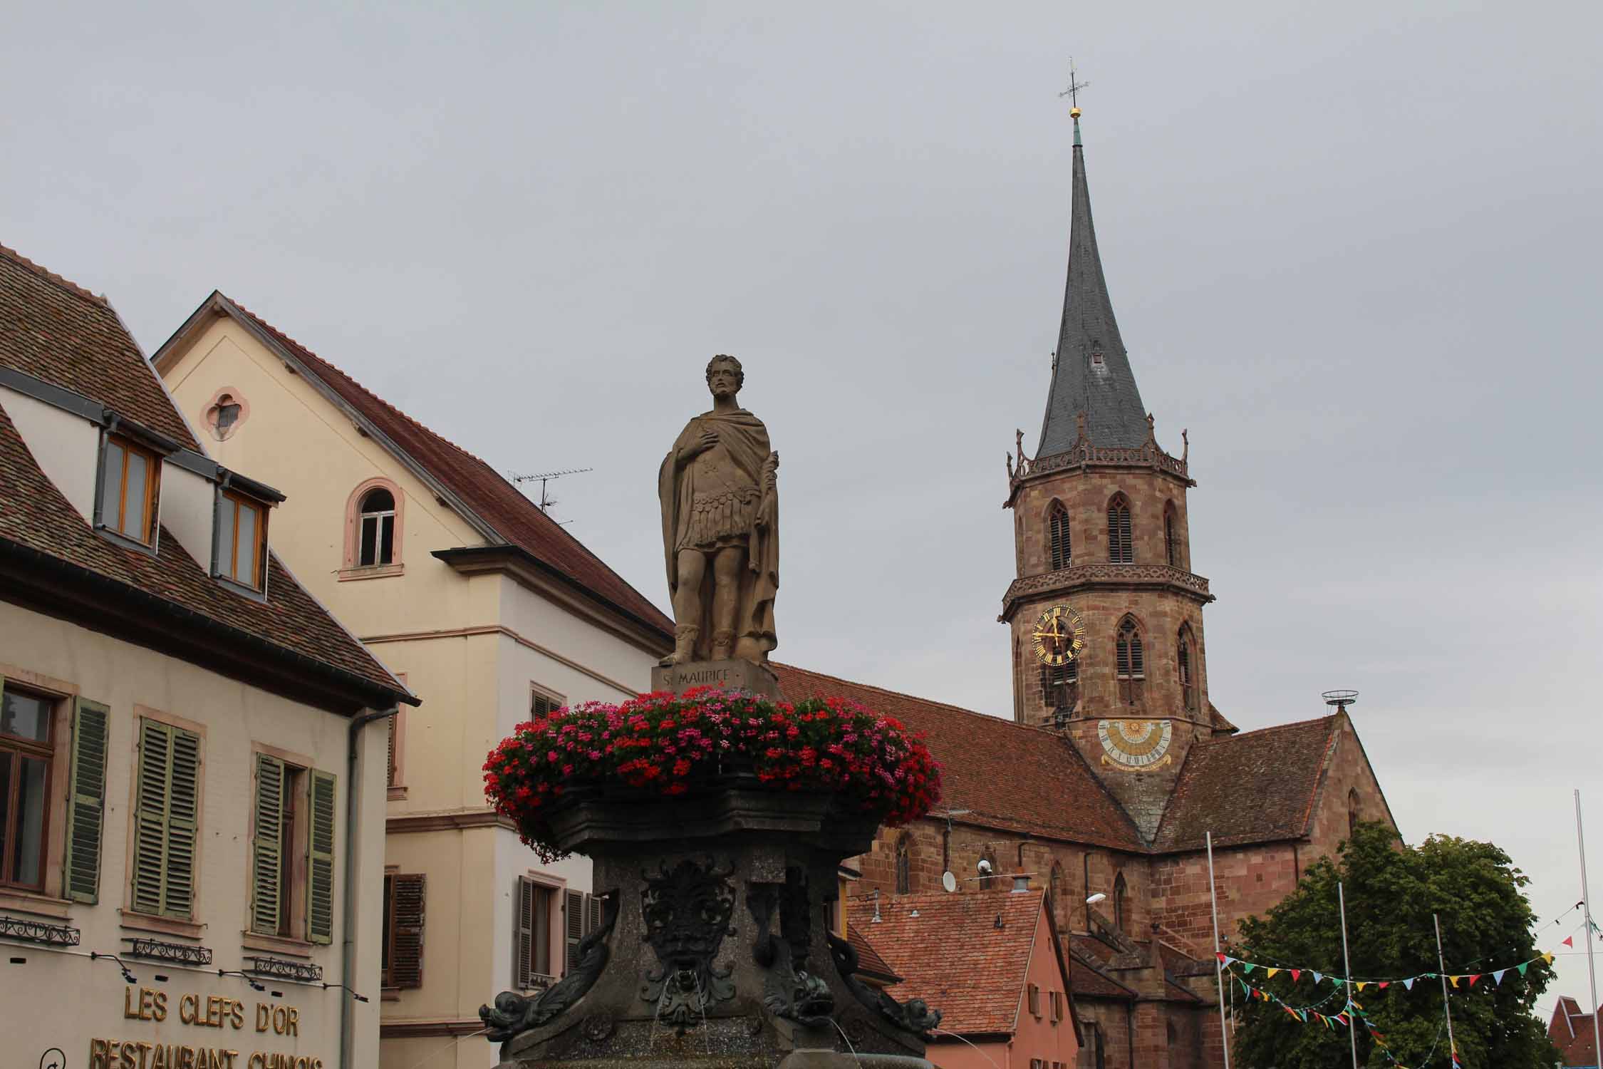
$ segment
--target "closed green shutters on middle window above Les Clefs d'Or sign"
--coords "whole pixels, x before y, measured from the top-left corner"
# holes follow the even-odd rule
[[[133,814],[135,912],[183,920],[194,915],[199,795],[200,736],[141,718]]]

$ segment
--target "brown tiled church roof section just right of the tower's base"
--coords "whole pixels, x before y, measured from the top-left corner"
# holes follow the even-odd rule
[[[1153,849],[1298,838],[1335,745],[1335,716],[1197,742],[1186,753]]]

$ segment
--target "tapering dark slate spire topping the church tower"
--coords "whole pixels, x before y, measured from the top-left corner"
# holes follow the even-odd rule
[[[1074,218],[1069,224],[1069,282],[1063,295],[1063,324],[1052,367],[1047,418],[1040,425],[1037,457],[1061,454],[1079,439],[1079,417],[1092,446],[1138,447],[1149,428],[1130,357],[1112,317],[1108,280],[1096,253],[1092,197],[1085,186],[1085,149],[1080,109],[1074,117]]]

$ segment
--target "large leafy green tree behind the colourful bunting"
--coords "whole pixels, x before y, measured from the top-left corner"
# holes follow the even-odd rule
[[[1393,979],[1436,973],[1436,931],[1431,914],[1441,917],[1441,946],[1448,974],[1502,970],[1536,958],[1531,939],[1536,915],[1521,888],[1524,873],[1492,843],[1433,835],[1419,846],[1399,843],[1382,824],[1363,824],[1353,838],[1322,857],[1303,875],[1297,889],[1268,917],[1241,925],[1241,942],[1228,950],[1244,962],[1310,968],[1342,976],[1342,922],[1337,883],[1347,893],[1347,933],[1356,979]],[[1234,966],[1241,976],[1242,966]],[[1531,1010],[1553,978],[1545,960],[1531,963],[1521,976],[1508,968],[1502,984],[1488,974],[1473,987],[1460,981],[1449,987],[1452,1032],[1465,1069],[1545,1069],[1555,1061],[1547,1032]],[[1244,978],[1290,1006],[1318,1006],[1334,1016],[1348,990],[1330,981],[1313,984],[1306,973],[1266,978],[1255,970]],[[1233,982],[1234,981],[1226,981]],[[1334,994],[1339,990],[1340,994]],[[1358,1023],[1358,1064],[1391,1069],[1401,1063],[1448,1066],[1448,1034],[1443,1027],[1441,981],[1431,976],[1412,987],[1369,986],[1351,992],[1369,1024],[1385,1037],[1382,1048],[1369,1027]],[[1244,992],[1234,984],[1236,1006]],[[1279,1005],[1246,1000],[1244,1026],[1236,1032],[1236,1061],[1246,1069],[1345,1069],[1351,1066],[1348,1034],[1326,1029],[1314,1018],[1292,1019]],[[1390,1050],[1390,1056],[1388,1051]],[[1428,1056],[1428,1063],[1425,1061]],[[1393,1058],[1396,1061],[1393,1061]]]

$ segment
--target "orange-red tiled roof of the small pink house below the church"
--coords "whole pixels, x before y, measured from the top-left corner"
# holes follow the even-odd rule
[[[1053,952],[1050,946],[1036,947],[1044,894],[898,894],[880,902],[877,925],[870,923],[874,902],[853,898],[850,915],[904,978],[886,989],[891,997],[923,998],[941,1011],[947,1032],[1005,1034],[1018,1026],[1031,954]]]

